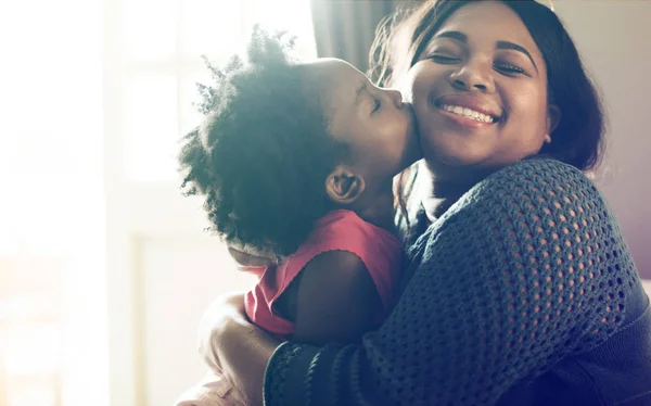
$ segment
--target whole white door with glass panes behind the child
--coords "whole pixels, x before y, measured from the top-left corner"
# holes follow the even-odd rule
[[[316,56],[309,0],[104,1],[108,365],[120,371],[111,406],[171,404],[205,372],[194,351],[201,312],[250,286],[203,231],[201,199],[178,189],[178,142],[199,124],[195,83],[208,79],[201,56],[226,62],[257,23]],[[170,301],[168,287],[182,299]],[[178,317],[174,329],[167,316]]]

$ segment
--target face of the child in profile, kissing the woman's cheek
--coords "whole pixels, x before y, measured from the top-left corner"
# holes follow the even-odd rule
[[[310,63],[329,107],[330,132],[350,147],[352,166],[369,182],[385,182],[421,157],[411,105],[397,90],[381,89],[350,64]]]

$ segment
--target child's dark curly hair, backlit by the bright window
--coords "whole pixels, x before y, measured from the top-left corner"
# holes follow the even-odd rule
[[[199,85],[204,123],[182,141],[184,195],[205,196],[210,230],[229,243],[278,256],[293,253],[330,207],[326,179],[346,148],[329,134],[293,41],[254,29],[247,62]]]

